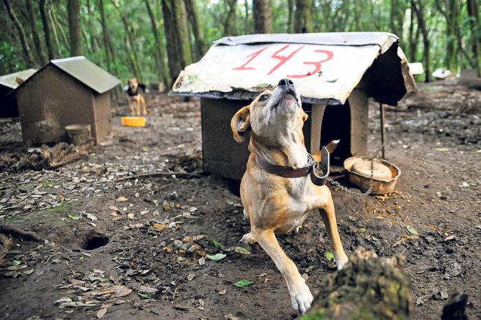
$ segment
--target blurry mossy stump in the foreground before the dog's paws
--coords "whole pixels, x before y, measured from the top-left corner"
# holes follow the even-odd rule
[[[342,271],[327,275],[311,309],[300,320],[411,319],[412,284],[404,258],[379,258],[358,249]]]

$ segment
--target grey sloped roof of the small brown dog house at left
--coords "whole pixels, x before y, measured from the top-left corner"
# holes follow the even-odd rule
[[[51,60],[50,63],[98,93],[104,93],[120,84],[120,80],[85,56]]]

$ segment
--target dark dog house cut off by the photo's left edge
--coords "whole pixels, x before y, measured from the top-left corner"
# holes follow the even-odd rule
[[[13,95],[8,95],[8,93],[12,92],[16,87],[19,87],[19,83],[16,82],[17,78],[25,81],[35,72],[36,69],[26,69],[0,77],[0,117],[19,116],[19,108],[16,106],[16,100]]]

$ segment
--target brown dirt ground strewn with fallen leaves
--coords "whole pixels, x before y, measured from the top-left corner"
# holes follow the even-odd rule
[[[257,244],[240,246],[251,254],[235,248],[249,230],[238,183],[186,174],[201,170],[199,102],[147,98],[148,126],[122,127],[127,108],[115,108],[111,140],[88,159],[56,170],[1,167],[0,223],[45,241],[14,238],[0,268],[0,319],[295,318],[267,254]],[[402,170],[397,191],[360,198],[331,187],[348,255],[358,247],[405,255],[415,319],[440,319],[456,289],[469,295],[469,317],[481,317],[480,111],[480,91],[421,86],[386,115],[387,158]],[[374,153],[374,103],[370,119]],[[32,152],[19,122],[1,122],[0,132],[1,155]],[[169,170],[183,174],[124,179]],[[320,216],[279,240],[316,293],[335,271]],[[216,253],[225,258],[205,257]],[[241,280],[252,283],[234,286]]]

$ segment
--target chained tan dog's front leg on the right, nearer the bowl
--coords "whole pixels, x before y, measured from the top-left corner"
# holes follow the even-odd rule
[[[349,260],[346,253],[344,253],[341,238],[339,237],[339,232],[337,231],[334,203],[331,195],[329,196],[326,205],[324,205],[322,209],[319,209],[319,212],[322,216],[322,220],[324,220],[324,225],[326,225],[326,231],[329,236],[329,240],[331,240],[331,249],[334,253],[337,270],[341,270]]]

